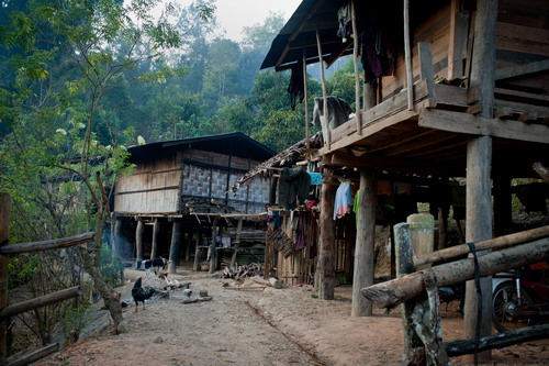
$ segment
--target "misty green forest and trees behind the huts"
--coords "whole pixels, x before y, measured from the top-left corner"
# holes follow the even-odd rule
[[[304,137],[304,108],[312,112],[322,95],[317,77],[309,76],[310,104],[292,110],[289,71],[259,70],[283,24],[273,13],[237,43],[215,36],[214,0],[0,0],[9,242],[96,232],[87,246],[10,258],[10,303],[70,286],[87,293],[12,319],[10,353],[59,332],[78,339],[93,292],[121,331],[121,266],[104,229],[114,181],[132,169],[128,146],[239,131],[280,152]],[[355,100],[352,64],[330,73],[327,91]]]

